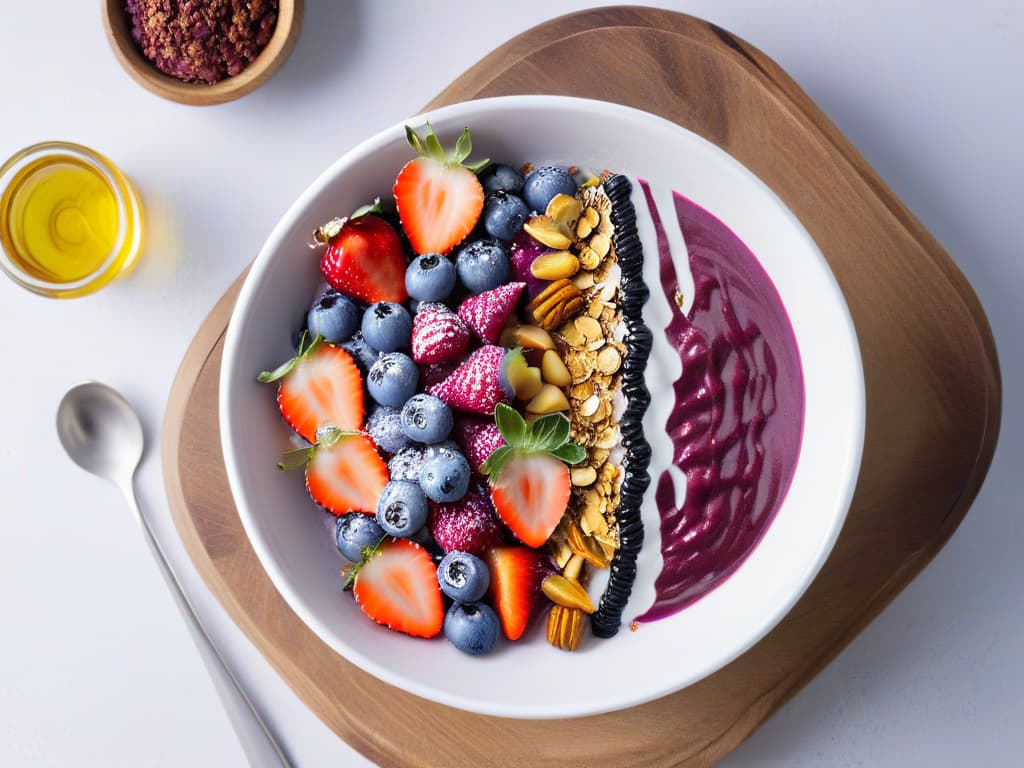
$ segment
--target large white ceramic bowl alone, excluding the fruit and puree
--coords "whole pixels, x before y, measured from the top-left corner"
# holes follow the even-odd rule
[[[577,653],[555,650],[543,628],[534,628],[523,641],[471,657],[443,638],[410,638],[362,615],[341,592],[342,561],[305,495],[302,473],[274,467],[291,445],[290,430],[273,389],[257,384],[256,374],[292,354],[292,332],[319,281],[317,258],[306,246],[310,232],[375,196],[390,196],[411,157],[398,124],[346,153],[303,193],[239,296],[221,368],[220,429],[253,548],[285,600],[328,645],[380,679],[445,705],[504,717],[571,717],[689,685],[785,615],[842,526],[860,465],[864,412],[859,350],[843,296],[781,201],[731,157],[673,123],[605,102],[549,96],[455,104],[408,122],[422,127],[426,117],[445,141],[469,126],[476,157],[611,168],[674,187],[751,248],[778,289],[803,359],[805,430],[788,495],[764,539],[721,587],[674,616],[635,633],[624,628],[610,640],[592,639]],[[642,208],[638,212],[643,216]],[[627,622],[650,603],[659,562],[658,531],[648,526]]]

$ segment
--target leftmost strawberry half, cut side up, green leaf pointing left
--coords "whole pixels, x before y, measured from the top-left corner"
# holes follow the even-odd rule
[[[278,407],[289,426],[309,442],[322,427],[362,429],[362,379],[352,356],[341,347],[314,342],[259,380],[281,379]]]

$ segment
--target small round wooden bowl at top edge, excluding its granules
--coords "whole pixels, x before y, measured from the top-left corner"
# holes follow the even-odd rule
[[[303,0],[280,0],[278,24],[266,47],[234,77],[218,83],[183,83],[165,75],[138,49],[124,0],[103,0],[103,26],[115,55],[132,79],[158,96],[196,106],[209,106],[244,96],[258,88],[284,63],[302,28]]]

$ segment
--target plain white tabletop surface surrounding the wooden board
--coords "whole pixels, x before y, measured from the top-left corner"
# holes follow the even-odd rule
[[[0,3],[0,156],[51,138],[93,146],[132,176],[148,216],[138,269],[98,295],[54,302],[0,281],[0,765],[244,764],[123,502],[57,443],[55,406],[86,378],[119,387],[141,412],[142,504],[295,764],[366,764],[271,672],[191,568],[155,447],[164,402],[203,317],[323,168],[509,37],[589,4],[306,0],[302,36],[278,75],[239,101],[199,109],[129,80],[98,2]],[[654,4],[745,38],[820,104],[975,286],[1006,392],[995,462],[949,545],[723,765],[1018,764],[1024,4]]]

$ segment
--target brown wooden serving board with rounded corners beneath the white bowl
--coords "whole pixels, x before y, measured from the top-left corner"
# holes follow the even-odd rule
[[[193,342],[167,407],[171,509],[231,617],[328,726],[381,765],[710,765],[834,658],[964,518],[998,432],[992,337],[939,244],[771,59],[724,30],[642,8],[563,16],[497,49],[427,110],[510,93],[614,100],[695,131],[764,179],[828,259],[861,343],[866,442],[846,525],[797,606],[710,678],[608,715],[503,720],[379,682],[289,609],[232,506],[217,385],[239,284]],[[382,722],[386,729],[377,727]]]

